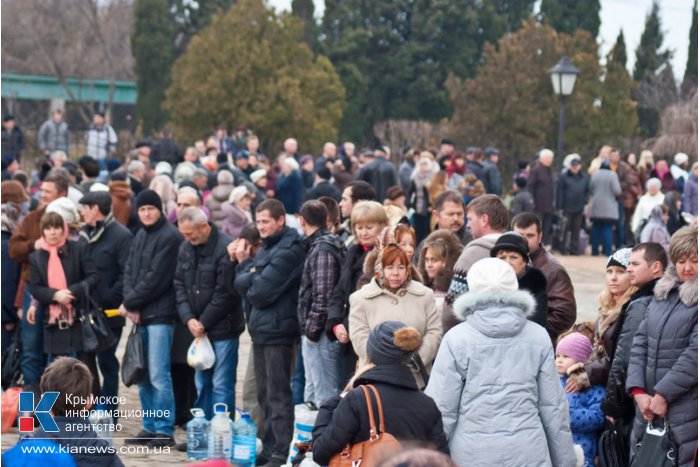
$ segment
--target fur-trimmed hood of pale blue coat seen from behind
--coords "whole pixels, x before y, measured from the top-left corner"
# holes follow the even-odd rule
[[[510,337],[522,331],[535,307],[535,299],[524,290],[467,292],[455,300],[453,313],[484,335]]]

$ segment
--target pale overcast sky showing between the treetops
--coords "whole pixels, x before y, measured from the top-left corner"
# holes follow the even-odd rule
[[[289,9],[291,0],[268,0],[277,9]],[[586,0],[580,0],[586,1]],[[644,30],[644,19],[651,10],[653,0],[600,0],[600,34],[603,55],[615,44],[615,39],[624,31],[627,44],[627,68],[634,68],[634,52]],[[314,0],[316,15],[323,14],[324,0]],[[688,58],[688,37],[692,22],[693,0],[662,0],[659,2],[661,27],[664,32],[664,46],[674,51],[673,71],[676,79],[683,78]],[[536,6],[536,8],[538,8]]]

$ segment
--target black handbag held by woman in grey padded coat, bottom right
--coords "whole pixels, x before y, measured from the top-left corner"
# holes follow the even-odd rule
[[[677,467],[678,446],[671,438],[668,419],[664,426],[655,428],[653,420],[637,441],[630,459],[630,467]]]

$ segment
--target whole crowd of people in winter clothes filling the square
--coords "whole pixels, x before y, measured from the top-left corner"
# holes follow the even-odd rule
[[[679,465],[693,462],[697,162],[688,172],[685,154],[669,167],[604,146],[588,173],[577,154],[557,173],[542,149],[504,196],[499,151],[450,140],[397,166],[388,147],[350,142],[314,157],[289,138],[269,157],[249,130],[220,125],[184,151],[163,130],[117,155],[96,114],[74,161],[58,112],[28,174],[3,126],[3,351],[21,342],[25,390],[45,387],[47,365],[78,365],[68,356],[115,401],[117,344],[90,352],[81,326],[90,300],[118,310],[112,333],[138,326],[147,362],[148,416],[127,444],[174,446],[190,408],[235,407],[238,384],[259,465],[287,462],[304,402],[325,465],[369,438],[372,385],[388,433],[457,465],[573,466],[574,444],[594,465],[606,418],[635,441],[655,417]],[[583,254],[588,230],[609,257],[595,323],[577,322],[551,253]],[[215,364],[195,370],[186,352],[205,336]]]

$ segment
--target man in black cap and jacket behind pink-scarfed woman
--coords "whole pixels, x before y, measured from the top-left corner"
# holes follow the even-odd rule
[[[102,310],[119,308],[124,291],[124,269],[131,247],[131,231],[116,222],[112,214],[112,196],[106,191],[90,191],[80,199],[85,227],[80,231],[80,241],[87,244],[88,254],[100,272],[100,281],[91,292],[91,298]],[[102,373],[101,395],[110,401],[119,391],[119,360],[115,356],[119,338],[124,328],[124,318],[115,316],[107,320],[117,337],[109,349],[97,354]],[[115,410],[116,404],[108,404],[107,410]]]

